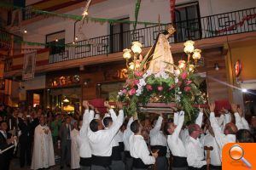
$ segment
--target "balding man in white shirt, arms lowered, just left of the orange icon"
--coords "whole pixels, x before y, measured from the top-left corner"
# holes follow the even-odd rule
[[[202,130],[198,124],[189,125],[189,139],[185,144],[189,169],[206,169],[210,159],[205,160],[203,144],[198,139]]]

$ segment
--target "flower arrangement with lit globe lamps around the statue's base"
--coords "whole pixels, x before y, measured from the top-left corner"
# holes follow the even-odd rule
[[[126,59],[128,78],[119,91],[118,99],[128,103],[128,114],[137,112],[138,104],[157,102],[175,103],[178,109],[188,113],[187,119],[191,120],[194,117],[197,108],[193,105],[205,102],[199,89],[199,77],[195,75],[197,61],[201,59],[201,50],[194,49],[192,41],[185,42],[184,46],[188,60],[179,60],[177,65],[166,63],[172,65],[174,71],[165,69],[157,73],[148,70],[150,56],[142,56],[140,42],[133,42],[131,49],[124,49],[123,57]],[[191,54],[194,62],[190,60]]]

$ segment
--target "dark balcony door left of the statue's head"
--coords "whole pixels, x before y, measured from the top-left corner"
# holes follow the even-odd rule
[[[129,20],[125,18],[122,20]],[[110,25],[110,53],[122,51],[131,45],[130,24],[114,23]]]

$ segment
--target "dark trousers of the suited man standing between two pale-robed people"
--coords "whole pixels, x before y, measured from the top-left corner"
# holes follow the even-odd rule
[[[61,166],[66,163],[70,166],[71,161],[71,140],[66,140],[61,143]]]

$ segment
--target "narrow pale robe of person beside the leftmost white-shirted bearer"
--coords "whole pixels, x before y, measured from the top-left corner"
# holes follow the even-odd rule
[[[79,169],[80,168],[78,135],[79,135],[79,131],[75,128],[70,133],[70,137],[71,137],[71,169]]]

